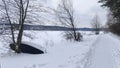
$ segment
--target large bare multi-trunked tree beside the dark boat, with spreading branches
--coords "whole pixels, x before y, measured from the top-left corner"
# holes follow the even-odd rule
[[[25,23],[44,23],[47,20],[45,14],[49,14],[49,8],[41,5],[40,0],[1,0],[0,14],[10,24],[12,35],[12,49],[21,52],[21,41]],[[39,1],[39,2],[38,2]],[[35,3],[35,4],[34,4]],[[15,31],[15,24],[18,24]]]

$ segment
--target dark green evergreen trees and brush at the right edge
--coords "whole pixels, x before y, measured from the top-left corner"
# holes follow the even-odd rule
[[[108,30],[120,35],[120,0],[100,0],[99,2],[109,9]]]

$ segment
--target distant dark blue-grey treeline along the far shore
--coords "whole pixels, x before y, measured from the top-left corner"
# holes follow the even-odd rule
[[[9,24],[0,24],[0,29],[9,30]],[[19,30],[19,24],[13,25],[15,30]],[[24,30],[37,30],[37,31],[72,31],[72,28],[63,27],[63,26],[46,26],[46,25],[29,25],[24,24]],[[76,31],[96,31],[96,28],[75,28]],[[99,31],[103,31],[104,29],[99,28]]]

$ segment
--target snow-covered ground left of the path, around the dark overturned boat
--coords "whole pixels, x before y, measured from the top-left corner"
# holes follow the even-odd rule
[[[34,31],[31,36],[32,39],[24,37],[23,41],[42,46],[46,53],[4,55],[1,68],[82,68],[86,53],[97,39],[96,35],[85,35],[82,42],[66,41],[61,32],[56,31]]]

